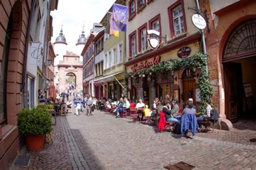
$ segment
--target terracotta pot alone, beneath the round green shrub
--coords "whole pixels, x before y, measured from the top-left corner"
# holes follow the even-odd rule
[[[27,149],[30,151],[41,151],[45,144],[45,135],[26,135]]]

